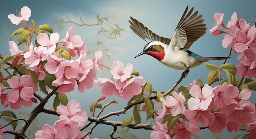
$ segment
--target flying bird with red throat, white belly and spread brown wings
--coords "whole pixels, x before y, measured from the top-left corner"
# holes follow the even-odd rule
[[[193,13],[194,7],[187,12],[188,8],[187,6],[171,38],[153,33],[141,22],[130,17],[131,20],[128,22],[132,31],[147,42],[143,51],[134,58],[143,54],[153,56],[168,67],[184,70],[182,73],[184,78],[189,73],[189,69],[204,62],[229,58],[228,56],[204,57],[189,51],[191,45],[206,33],[207,28],[203,23],[202,14],[198,15],[198,11]]]

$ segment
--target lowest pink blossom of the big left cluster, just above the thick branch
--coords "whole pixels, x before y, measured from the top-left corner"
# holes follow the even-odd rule
[[[66,78],[65,76],[62,78],[56,78],[56,80],[52,82],[52,86],[59,86],[57,92],[61,94],[73,91],[75,84],[76,82],[74,78]]]

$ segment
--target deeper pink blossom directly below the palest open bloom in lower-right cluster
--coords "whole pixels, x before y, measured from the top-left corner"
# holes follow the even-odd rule
[[[199,126],[201,121],[203,126],[210,126],[215,120],[215,116],[211,113],[209,109],[201,110],[185,110],[184,112],[187,119],[189,119],[189,124],[193,126]]]

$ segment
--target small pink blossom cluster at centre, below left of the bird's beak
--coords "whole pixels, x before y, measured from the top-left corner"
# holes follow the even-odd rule
[[[112,70],[110,70],[114,79],[98,78],[94,80],[96,86],[102,87],[102,94],[104,96],[112,96],[115,94],[118,97],[122,97],[125,100],[129,100],[133,95],[140,94],[142,91],[141,86],[146,84],[146,81],[142,76],[131,78],[130,74],[133,70],[132,64],[126,64],[117,60],[113,62]]]

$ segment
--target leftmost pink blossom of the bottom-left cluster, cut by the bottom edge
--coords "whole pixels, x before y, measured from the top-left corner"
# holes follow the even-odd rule
[[[36,139],[59,139],[57,130],[48,124],[45,124],[41,130],[38,130],[35,133],[35,137]]]

